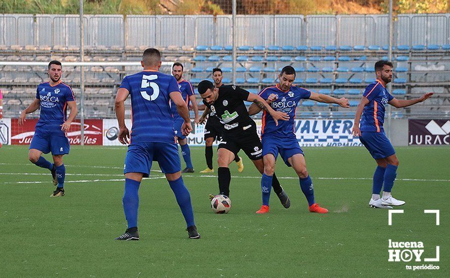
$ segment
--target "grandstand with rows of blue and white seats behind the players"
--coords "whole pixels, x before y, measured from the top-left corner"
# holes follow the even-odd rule
[[[84,61],[102,65],[85,67],[85,117],[113,117],[120,81],[141,67],[109,63],[140,61],[143,50],[150,46],[162,51],[163,61],[184,63],[185,77],[194,86],[211,78],[214,67],[222,68],[224,83],[232,82],[229,18],[86,16]],[[26,65],[27,62],[80,61],[77,20],[73,16],[0,16],[0,88],[5,95],[7,117],[17,117],[32,102],[36,84],[47,80],[45,67]],[[387,31],[382,32],[387,30],[384,15],[239,16],[238,22],[238,85],[256,93],[277,82],[280,68],[291,65],[297,71],[297,85],[350,99],[350,112],[304,101],[297,110],[298,117],[353,118],[362,90],[374,81],[374,63],[388,59]],[[401,15],[394,27],[392,94],[408,98],[434,91],[437,95],[426,104],[396,110],[392,116],[450,117],[450,16]],[[159,31],[141,36],[136,29],[142,28]],[[164,29],[171,32],[161,32]],[[26,36],[23,30],[27,30]],[[254,32],[247,33],[248,30]],[[63,70],[64,81],[79,96],[80,67],[65,66]],[[169,72],[170,66],[162,71]]]

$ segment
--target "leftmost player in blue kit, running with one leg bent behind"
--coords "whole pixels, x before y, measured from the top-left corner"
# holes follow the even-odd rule
[[[61,197],[64,196],[66,175],[63,156],[69,154],[70,150],[66,132],[78,110],[72,88],[61,81],[63,74],[61,62],[50,62],[47,73],[50,76],[49,82],[40,83],[37,86],[36,99],[20,114],[19,125],[26,121],[26,114],[33,113],[40,108],[39,120],[31,140],[28,158],[37,166],[51,171],[53,184],[57,188],[50,197]],[[68,118],[67,106],[70,108]],[[53,163],[41,156],[42,153],[50,152],[52,152]]]

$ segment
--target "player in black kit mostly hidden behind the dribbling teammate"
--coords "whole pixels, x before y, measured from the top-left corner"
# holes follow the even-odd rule
[[[222,83],[222,70],[219,68],[212,69],[212,79],[214,80],[214,86],[216,88],[223,85]],[[199,106],[199,110],[205,110],[205,105],[201,104]],[[205,117],[207,114],[204,114]],[[219,119],[217,117],[214,117],[214,112],[209,112],[208,120],[206,121],[205,125],[205,158],[206,158],[206,165],[208,166],[205,170],[200,171],[200,173],[214,173],[214,170],[212,168],[212,144],[214,141],[217,140],[220,141],[222,137],[223,132],[223,126],[220,123]],[[242,158],[238,155],[235,156],[235,162],[238,165],[238,171],[242,173],[244,171],[244,163],[242,162]]]

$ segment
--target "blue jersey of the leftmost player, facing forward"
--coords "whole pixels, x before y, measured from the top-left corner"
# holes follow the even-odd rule
[[[36,89],[36,99],[40,101],[40,115],[37,125],[44,123],[62,124],[67,118],[67,102],[75,101],[72,88],[60,82],[51,86],[49,82],[40,83]]]

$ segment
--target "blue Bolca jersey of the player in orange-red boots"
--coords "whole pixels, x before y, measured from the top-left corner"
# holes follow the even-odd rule
[[[278,84],[277,86],[267,87],[263,89],[258,95],[267,100],[271,94],[278,96],[278,99],[270,105],[275,111],[285,112],[289,115],[288,121],[278,121],[278,126],[275,125],[274,118],[265,110],[262,112],[262,127],[261,136],[276,135],[279,137],[295,137],[294,133],[294,119],[297,104],[300,99],[309,99],[311,92],[305,88],[291,86],[289,91],[282,91]]]

